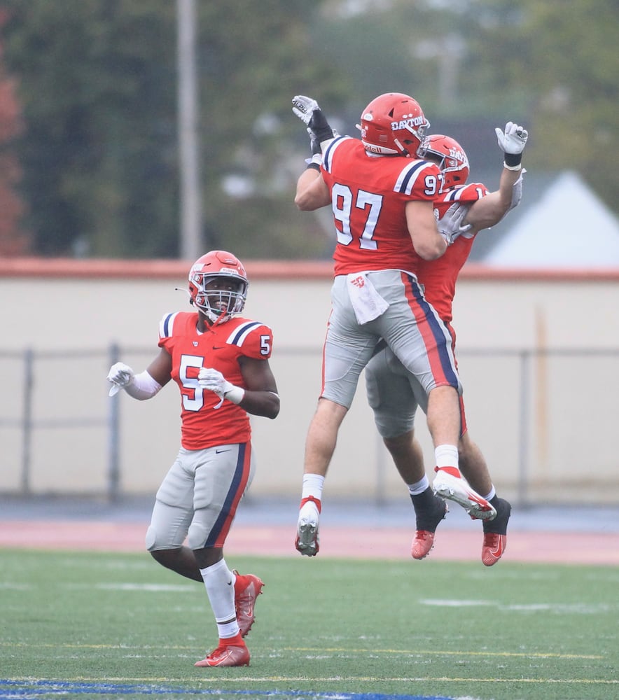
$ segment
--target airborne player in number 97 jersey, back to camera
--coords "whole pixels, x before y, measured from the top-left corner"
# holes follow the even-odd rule
[[[323,386],[305,443],[295,547],[307,556],[319,551],[326,471],[359,375],[381,338],[429,396],[434,489],[466,498],[475,517],[494,517],[494,507],[458,469],[461,384],[452,339],[415,276],[419,260],[447,249],[433,211],[443,175],[417,158],[429,127],[422,108],[406,94],[376,97],[361,113],[359,140],[335,136],[314,99],[297,95],[293,105],[314,154],[298,179],[295,204],[302,211],[331,204],[336,234]]]

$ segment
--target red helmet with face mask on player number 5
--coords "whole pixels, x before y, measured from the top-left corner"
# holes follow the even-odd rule
[[[221,288],[207,288],[218,280]],[[234,282],[234,289],[230,286]],[[213,323],[230,321],[240,314],[247,298],[247,274],[242,262],[228,251],[210,251],[198,258],[189,271],[190,303],[194,304]]]

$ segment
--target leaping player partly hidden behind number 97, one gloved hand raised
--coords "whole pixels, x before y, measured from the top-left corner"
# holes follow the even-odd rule
[[[489,193],[482,183],[466,184],[468,158],[460,144],[447,136],[436,134],[427,137],[419,148],[419,155],[436,165],[443,172],[443,194],[435,203],[440,218],[447,209],[459,202],[467,210],[464,223],[452,235],[452,244],[438,260],[422,260],[417,266],[417,278],[424,286],[426,300],[438,311],[453,338],[451,326],[452,302],[458,274],[466,262],[478,232],[499,223],[510,209],[519,204],[522,197],[522,151],[528,132],[519,125],[508,122],[505,131],[496,129],[499,146],[503,151],[503,171],[499,190]],[[445,507],[440,498],[433,495],[425,475],[422,448],[414,436],[417,406],[425,411],[428,397],[419,381],[408,372],[398,358],[386,348],[370,360],[366,367],[368,402],[374,411],[375,423],[384,444],[398,468],[415,507],[416,532],[411,554],[423,559],[433,547],[434,533],[445,517]],[[466,428],[464,403],[461,402],[462,429],[458,444],[461,471],[479,493],[496,509],[496,517],[482,523],[484,538],[482,562],[492,566],[501,559],[506,549],[507,524],[511,506],[507,500],[496,496],[485,458]],[[457,500],[457,499],[454,499]],[[466,507],[466,503],[461,503]]]

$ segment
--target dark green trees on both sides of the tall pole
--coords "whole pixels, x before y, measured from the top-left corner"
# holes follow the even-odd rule
[[[6,61],[20,79],[28,130],[19,152],[35,250],[177,255],[175,3],[6,4]],[[299,134],[291,97],[304,85],[346,94],[307,42],[314,5],[265,0],[256,12],[255,2],[235,0],[222,12],[218,3],[197,3],[209,247],[234,241],[241,257],[293,252],[297,213],[289,174],[281,176],[289,137]],[[314,253],[324,246],[299,243]]]

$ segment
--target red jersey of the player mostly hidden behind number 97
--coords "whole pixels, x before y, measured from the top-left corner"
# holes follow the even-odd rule
[[[438,209],[439,218],[445,214],[455,202],[473,204],[489,194],[485,185],[475,182],[457,187],[440,195],[434,207]],[[419,258],[417,279],[424,286],[424,296],[438,311],[445,323],[451,323],[453,318],[452,304],[456,293],[456,280],[462,266],[471,253],[475,235],[460,235],[447,248],[445,253],[436,260]]]

